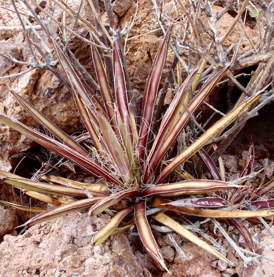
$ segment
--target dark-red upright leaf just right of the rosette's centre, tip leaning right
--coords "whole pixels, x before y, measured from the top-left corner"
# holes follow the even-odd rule
[[[147,148],[148,138],[150,135],[150,127],[153,118],[153,111],[156,103],[160,78],[165,65],[168,52],[170,32],[167,32],[163,39],[153,62],[147,84],[144,88],[143,106],[142,106],[142,121],[138,140],[138,157],[143,160],[145,149]]]

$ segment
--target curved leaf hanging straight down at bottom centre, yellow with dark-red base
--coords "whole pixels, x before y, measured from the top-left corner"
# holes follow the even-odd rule
[[[155,241],[153,233],[151,231],[147,215],[145,214],[145,202],[139,202],[135,205],[135,222],[137,226],[138,233],[140,235],[140,239],[149,254],[157,261],[159,264],[169,272],[165,260],[163,260],[161,251],[159,249],[158,244]]]

